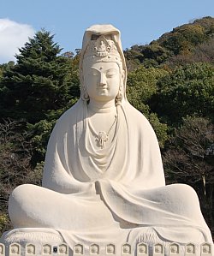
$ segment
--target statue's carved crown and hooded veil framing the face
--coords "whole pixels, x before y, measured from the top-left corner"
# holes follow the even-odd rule
[[[120,31],[112,25],[94,25],[86,29],[82,41],[80,54],[80,84],[81,98],[86,99],[86,88],[84,87],[83,63],[84,62],[118,63],[124,74],[123,85],[121,85],[120,100],[126,99],[127,67],[122,51]]]

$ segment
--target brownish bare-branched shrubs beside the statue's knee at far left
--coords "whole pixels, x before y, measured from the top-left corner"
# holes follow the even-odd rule
[[[0,232],[9,228],[7,204],[13,189],[24,183],[41,185],[41,170],[31,165],[30,134],[21,128],[23,122],[11,119],[0,123]]]

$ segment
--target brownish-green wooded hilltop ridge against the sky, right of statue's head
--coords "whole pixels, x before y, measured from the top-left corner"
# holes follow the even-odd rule
[[[212,39],[213,34],[214,18],[212,17],[205,17],[175,27],[171,32],[164,33],[149,45],[134,45],[124,51],[125,57],[128,59],[128,70],[132,71],[137,68],[138,64],[145,67],[158,67],[168,63],[169,58],[177,55],[191,56],[195,47]]]

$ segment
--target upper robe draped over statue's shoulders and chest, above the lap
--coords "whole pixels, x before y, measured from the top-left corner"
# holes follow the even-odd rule
[[[74,193],[100,179],[140,189],[165,185],[158,140],[150,123],[128,103],[117,109],[115,138],[104,150],[96,150],[90,142],[87,106],[82,100],[62,115],[48,144],[43,187]]]

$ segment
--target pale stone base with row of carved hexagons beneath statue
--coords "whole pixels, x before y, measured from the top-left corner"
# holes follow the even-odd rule
[[[134,242],[124,241],[120,245],[114,243],[112,237],[108,244],[76,243],[68,246],[55,229],[13,229],[3,233],[0,239],[0,256],[212,256],[211,243],[163,241],[152,228],[133,235],[136,235]]]

